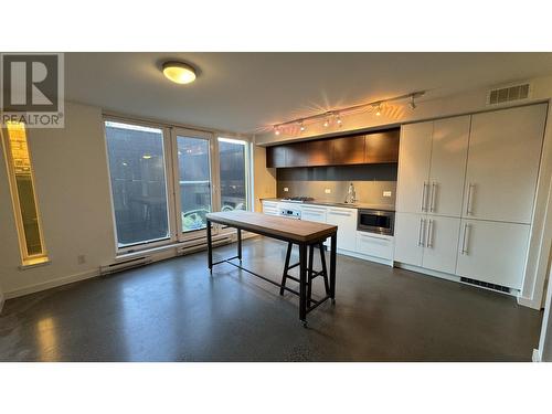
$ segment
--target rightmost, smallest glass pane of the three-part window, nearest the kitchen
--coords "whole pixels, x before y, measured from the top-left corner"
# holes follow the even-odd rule
[[[247,141],[219,138],[222,211],[247,210]]]

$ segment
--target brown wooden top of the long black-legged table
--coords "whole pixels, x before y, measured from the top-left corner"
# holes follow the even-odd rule
[[[337,225],[243,210],[209,213],[206,219],[214,223],[297,243],[318,242],[331,236],[338,230]]]

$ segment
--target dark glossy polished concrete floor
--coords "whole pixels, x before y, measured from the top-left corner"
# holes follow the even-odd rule
[[[512,297],[342,255],[337,304],[304,328],[297,297],[227,264],[211,277],[205,257],[8,300],[0,360],[530,361],[538,344],[541,314]],[[244,265],[274,279],[284,257],[280,242],[244,242]]]

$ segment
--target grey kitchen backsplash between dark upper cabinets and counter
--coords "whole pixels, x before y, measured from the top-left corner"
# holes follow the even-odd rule
[[[394,205],[396,167],[390,163],[278,169],[277,197],[307,195],[319,201],[343,202],[352,182],[359,202]],[[391,197],[384,197],[384,192],[391,192]]]

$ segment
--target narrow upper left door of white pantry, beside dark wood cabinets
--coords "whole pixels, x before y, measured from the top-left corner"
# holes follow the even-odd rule
[[[433,121],[403,125],[399,152],[396,211],[421,213],[428,208]]]

